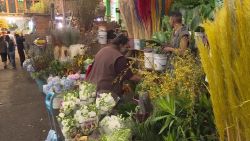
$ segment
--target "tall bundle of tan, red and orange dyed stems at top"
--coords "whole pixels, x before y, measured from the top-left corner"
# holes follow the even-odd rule
[[[121,17],[130,38],[151,39],[173,0],[120,0]]]

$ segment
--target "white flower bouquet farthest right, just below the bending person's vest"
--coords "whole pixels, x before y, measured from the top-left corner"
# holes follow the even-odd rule
[[[110,112],[115,105],[116,101],[112,97],[111,93],[102,93],[96,98],[96,108],[101,115]]]

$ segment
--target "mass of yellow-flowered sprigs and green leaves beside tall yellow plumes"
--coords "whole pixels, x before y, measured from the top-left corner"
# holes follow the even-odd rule
[[[133,135],[143,141],[216,141],[200,63],[190,53],[173,60],[175,70],[171,74],[141,71],[144,80],[137,90],[149,92],[154,109],[145,122],[134,123]]]

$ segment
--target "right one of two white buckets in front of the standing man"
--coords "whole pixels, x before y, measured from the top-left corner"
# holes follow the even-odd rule
[[[167,57],[164,54],[154,54],[154,67],[156,71],[163,71],[166,69]]]

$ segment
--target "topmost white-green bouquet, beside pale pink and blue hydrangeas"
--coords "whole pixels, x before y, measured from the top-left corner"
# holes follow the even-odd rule
[[[96,86],[87,82],[83,82],[79,86],[79,98],[82,105],[88,105],[95,101],[96,97]]]

